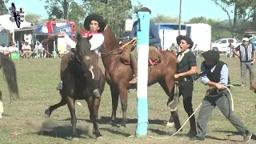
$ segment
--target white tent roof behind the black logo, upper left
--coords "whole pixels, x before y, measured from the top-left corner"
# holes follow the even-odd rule
[[[10,14],[0,15],[0,25],[6,30],[19,29],[18,26],[16,25],[16,22],[10,21]],[[31,26],[31,23],[26,21],[21,22],[20,28],[26,27],[26,26]]]

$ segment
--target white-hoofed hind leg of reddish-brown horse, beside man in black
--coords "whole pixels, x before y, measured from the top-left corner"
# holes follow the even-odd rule
[[[161,81],[159,81],[159,84],[160,84],[160,86],[162,86],[162,89],[169,96],[169,100],[173,100],[173,98],[174,98],[174,81],[170,80],[169,82],[166,82],[166,80],[161,80]],[[171,111],[170,114],[171,115],[170,115],[169,121],[166,126],[170,127],[174,123],[176,130],[179,130],[181,128],[181,123],[180,123],[179,117],[178,117],[178,110]]]

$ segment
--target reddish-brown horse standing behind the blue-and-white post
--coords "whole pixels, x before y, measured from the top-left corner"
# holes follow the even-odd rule
[[[125,65],[120,61],[123,50],[118,46],[118,42],[109,27],[103,32],[104,43],[101,50],[102,62],[105,66],[106,82],[110,86],[112,97],[112,126],[116,126],[116,111],[118,108],[118,98],[121,98],[122,105],[122,126],[126,127],[127,93],[130,89],[132,70],[130,65]],[[123,48],[125,49],[125,48]],[[148,86],[158,82],[168,96],[171,97],[171,90],[174,87],[174,74],[176,71],[176,55],[170,51],[162,51],[162,62],[154,67],[149,67]],[[172,115],[178,115],[177,111]]]

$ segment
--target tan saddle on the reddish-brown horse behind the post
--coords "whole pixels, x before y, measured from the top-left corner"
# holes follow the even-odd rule
[[[133,42],[134,41],[134,42]],[[121,62],[130,65],[130,52],[135,50],[137,46],[137,40],[130,40],[129,42],[119,43],[119,46],[122,46],[122,56]],[[162,54],[159,50],[156,49],[155,46],[149,47],[149,65],[157,65],[162,61]]]

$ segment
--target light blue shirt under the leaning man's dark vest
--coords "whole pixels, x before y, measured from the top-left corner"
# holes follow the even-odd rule
[[[216,66],[214,66],[210,71],[213,72],[214,69],[215,69],[215,67],[216,67]],[[205,70],[206,70],[206,69],[205,69],[204,65],[201,65],[201,71],[205,71]],[[228,69],[228,67],[227,67],[226,64],[225,64],[225,65],[222,66],[221,78],[220,78],[220,82],[218,82],[218,83],[222,83],[224,86],[226,86],[227,83],[228,83],[228,78],[229,78],[229,69]],[[202,74],[202,75],[201,75],[201,82],[202,82],[203,84],[206,84],[206,83],[209,82],[209,81],[210,81],[210,79],[207,78],[207,75],[206,75],[206,74]]]

